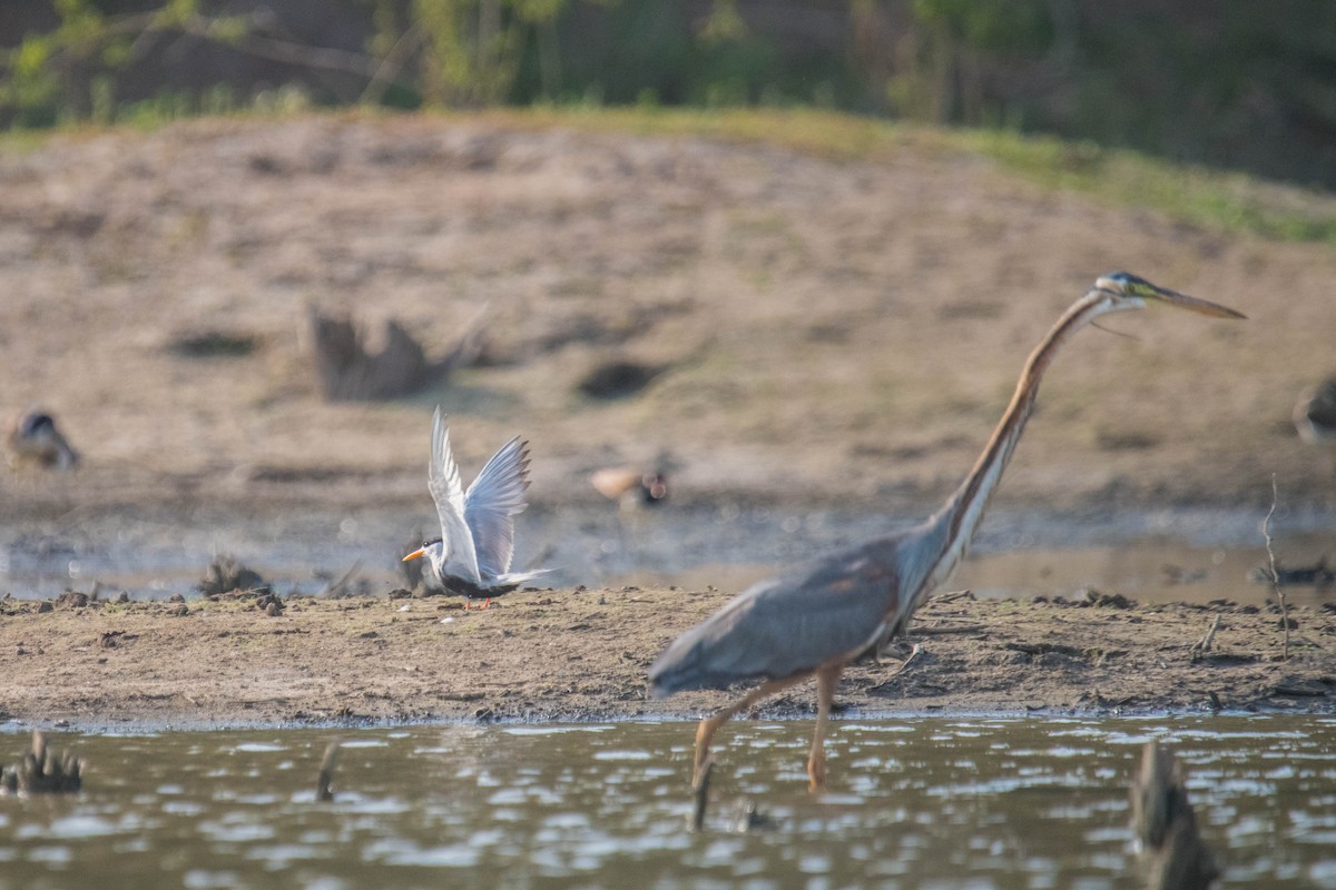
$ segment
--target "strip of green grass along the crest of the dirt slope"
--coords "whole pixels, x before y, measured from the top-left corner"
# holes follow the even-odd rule
[[[142,111],[142,109],[140,109]],[[274,108],[238,109],[234,120],[279,120],[294,113]],[[326,112],[375,120],[391,112]],[[534,105],[485,112],[434,112],[441,120],[484,120],[518,129],[568,127],[585,132],[639,136],[695,136],[791,148],[832,161],[888,160],[900,151],[982,156],[1003,169],[1055,192],[1079,192],[1117,207],[1161,212],[1174,220],[1226,234],[1279,242],[1336,244],[1336,195],[1271,183],[1244,173],[1176,164],[1133,151],[1051,136],[1007,131],[950,129],[858,117],[812,108],[703,109],[600,105]],[[130,124],[152,129],[151,115]],[[160,125],[178,120],[163,116]],[[0,152],[39,149],[49,132],[88,135],[102,128],[77,124],[57,131],[12,131],[0,136]]]

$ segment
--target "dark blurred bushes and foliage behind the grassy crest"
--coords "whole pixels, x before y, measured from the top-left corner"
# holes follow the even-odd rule
[[[294,104],[807,107],[1049,133],[1336,187],[1331,0],[275,0],[230,9],[220,0],[16,7],[16,32],[0,35],[0,125]],[[1007,139],[1001,155],[1071,156]],[[1248,223],[1277,224],[1288,226]]]

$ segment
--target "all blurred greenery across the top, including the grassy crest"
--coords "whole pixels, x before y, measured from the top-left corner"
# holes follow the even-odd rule
[[[696,20],[656,0],[342,0],[330,15],[363,43],[342,49],[216,5],[52,0],[51,27],[0,47],[0,124],[391,107],[756,140],[830,159],[915,145],[985,155],[1039,185],[1197,226],[1336,243],[1329,192],[1208,167],[1336,184],[1336,4],[1320,0],[1225,0],[1205,17],[1186,1],[822,5],[827,25],[847,28],[844,44],[795,41],[775,21],[749,21],[739,0],[713,0]],[[775,20],[800,7],[779,4]],[[248,60],[254,73],[234,83],[202,71],[194,85],[166,87],[162,47],[172,43],[231,53],[228,69]],[[287,80],[271,80],[275,71]]]

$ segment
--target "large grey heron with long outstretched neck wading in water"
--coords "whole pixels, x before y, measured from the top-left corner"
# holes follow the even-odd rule
[[[760,686],[700,722],[696,777],[709,755],[711,739],[733,714],[816,677],[816,731],[807,775],[814,791],[824,786],[823,738],[840,674],[903,632],[914,610],[965,556],[1058,348],[1106,312],[1150,304],[1177,306],[1216,318],[1244,318],[1224,306],[1156,287],[1136,275],[1101,276],[1030,354],[1011,404],[987,447],[937,514],[912,528],[874,538],[763,580],[673,640],[649,669],[655,695],[762,681]]]

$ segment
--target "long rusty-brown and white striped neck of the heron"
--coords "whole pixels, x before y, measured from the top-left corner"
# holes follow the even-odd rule
[[[1030,411],[1039,392],[1039,382],[1047,371],[1058,348],[1073,334],[1085,327],[1093,318],[1108,308],[1100,295],[1088,294],[1069,308],[1053,330],[1045,335],[1021,371],[1015,384],[1015,395],[1007,406],[1002,420],[974,463],[970,475],[965,478],[955,494],[929,519],[930,539],[937,543],[937,556],[927,566],[925,584],[916,591],[915,599],[926,596],[934,587],[943,583],[955,566],[965,558],[965,551],[974,538],[974,530],[983,519],[983,511],[1002,480],[1002,471],[1011,462],[1015,443],[1021,440]]]

